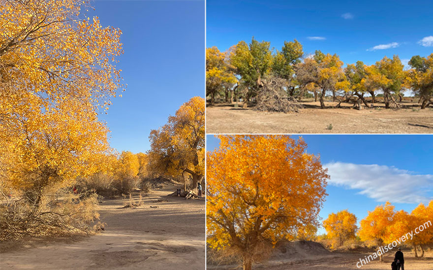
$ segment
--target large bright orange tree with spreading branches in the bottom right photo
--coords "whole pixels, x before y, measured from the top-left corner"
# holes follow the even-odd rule
[[[207,155],[207,242],[245,270],[278,241],[318,225],[328,175],[302,138],[221,135]]]

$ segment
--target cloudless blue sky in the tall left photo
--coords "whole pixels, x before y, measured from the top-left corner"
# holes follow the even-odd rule
[[[101,25],[122,30],[117,64],[128,84],[102,114],[110,145],[134,153],[149,149],[151,129],[193,96],[204,96],[205,3],[190,1],[92,2]]]

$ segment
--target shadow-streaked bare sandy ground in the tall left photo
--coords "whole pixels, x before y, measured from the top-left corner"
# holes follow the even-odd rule
[[[165,196],[175,186],[152,190],[144,205],[123,200],[100,204],[105,231],[79,241],[32,243],[1,253],[3,270],[203,270],[205,200]],[[157,198],[164,201],[156,202]],[[168,201],[166,201],[168,200]],[[158,208],[150,208],[158,206]]]

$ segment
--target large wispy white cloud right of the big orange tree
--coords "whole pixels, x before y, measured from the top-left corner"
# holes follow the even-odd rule
[[[349,189],[360,189],[378,202],[420,203],[433,197],[432,174],[414,174],[394,166],[331,162],[325,165],[331,176],[328,183]]]

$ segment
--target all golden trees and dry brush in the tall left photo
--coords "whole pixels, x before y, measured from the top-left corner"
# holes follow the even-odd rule
[[[110,147],[98,114],[126,88],[122,31],[85,18],[89,8],[0,0],[0,241],[88,234],[101,226],[101,195],[147,192],[159,176],[187,189],[203,179],[203,98],[152,131],[147,153]]]

